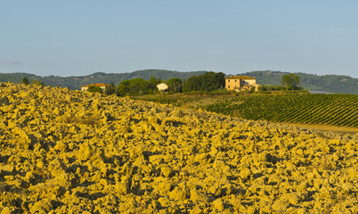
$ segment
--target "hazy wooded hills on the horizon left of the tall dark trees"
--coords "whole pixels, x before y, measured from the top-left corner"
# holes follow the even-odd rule
[[[107,83],[113,82],[115,86],[119,85],[120,81],[132,78],[150,79],[151,77],[169,79],[169,78],[190,78],[191,76],[200,75],[206,71],[191,71],[191,72],[179,72],[172,70],[137,70],[131,73],[101,73],[97,72],[87,76],[77,77],[59,77],[59,76],[47,76],[40,77],[28,73],[0,73],[0,82],[12,82],[20,83],[22,78],[28,78],[29,82],[33,79],[40,80],[45,86],[61,86],[68,87],[70,89],[80,89],[81,86],[85,86],[91,83]]]

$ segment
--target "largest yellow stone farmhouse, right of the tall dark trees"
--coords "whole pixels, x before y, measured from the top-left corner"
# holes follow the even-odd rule
[[[228,91],[248,91],[252,86],[255,86],[255,91],[258,90],[258,86],[260,85],[256,84],[256,78],[248,76],[231,76],[229,78],[225,78],[225,88]]]

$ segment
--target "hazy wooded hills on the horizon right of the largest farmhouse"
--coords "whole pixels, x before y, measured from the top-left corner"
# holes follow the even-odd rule
[[[282,75],[289,72],[262,70],[251,71],[238,75],[255,77],[256,83],[260,85],[281,86]],[[358,78],[351,78],[344,75],[324,75],[317,76],[306,73],[295,73],[301,79],[301,84],[305,89],[315,91],[326,91],[335,94],[358,95]]]

